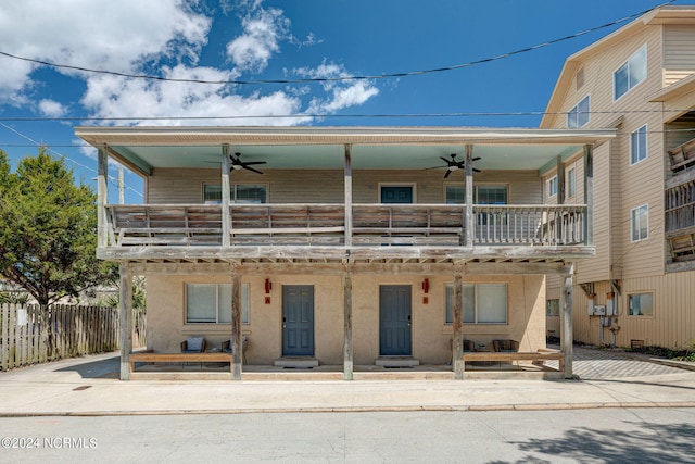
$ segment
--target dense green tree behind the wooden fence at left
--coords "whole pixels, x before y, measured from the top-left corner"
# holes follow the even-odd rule
[[[62,297],[113,281],[97,260],[97,197],[75,185],[63,160],[43,148],[12,173],[0,150],[0,274],[46,308]]]

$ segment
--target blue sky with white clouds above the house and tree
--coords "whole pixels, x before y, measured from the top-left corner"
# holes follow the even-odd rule
[[[83,68],[178,79],[376,76],[497,57],[592,29],[659,3],[0,0],[0,52]],[[65,156],[78,179],[91,183],[96,153],[80,147],[75,138],[73,128],[79,125],[535,127],[539,115],[451,114],[543,111],[565,59],[624,24],[453,71],[330,84],[167,83],[51,67],[3,54],[0,149],[16,164],[25,155],[35,154],[37,143],[43,143],[54,155]],[[317,114],[325,117],[313,116]],[[403,116],[414,114],[418,116]],[[293,117],[273,117],[288,115]],[[365,117],[368,115],[389,117]],[[92,120],[76,120],[83,117]],[[126,186],[126,202],[141,202],[139,178],[127,173]],[[111,192],[110,201],[116,202],[116,189],[111,188]]]

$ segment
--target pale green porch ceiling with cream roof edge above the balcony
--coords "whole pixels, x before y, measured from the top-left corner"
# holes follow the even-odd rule
[[[479,170],[540,170],[556,156],[598,145],[615,130],[482,129],[417,127],[79,127],[87,142],[108,145],[110,154],[141,173],[155,167],[216,168],[222,145],[243,161],[266,161],[266,170],[342,170],[351,143],[353,170],[424,170],[465,146],[480,156]]]

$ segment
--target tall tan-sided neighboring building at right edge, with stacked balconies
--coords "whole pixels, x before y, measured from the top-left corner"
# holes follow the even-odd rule
[[[594,152],[596,259],[577,266],[577,341],[693,346],[694,123],[695,5],[656,9],[567,59],[541,127],[618,129]],[[546,165],[544,202],[582,203],[583,170],[572,154]],[[559,291],[549,278],[549,335]]]

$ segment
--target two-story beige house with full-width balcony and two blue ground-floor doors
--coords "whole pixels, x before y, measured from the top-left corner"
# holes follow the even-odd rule
[[[546,277],[558,276],[571,376],[571,281],[576,263],[595,255],[593,160],[612,129],[76,134],[99,150],[97,252],[119,264],[122,323],[130,325],[132,276],[147,276],[154,352],[177,353],[191,336],[214,350],[231,339],[232,379],[242,360],[333,365],[345,379],[359,366],[451,363],[463,378],[465,341],[546,348]],[[143,204],[106,204],[109,159],[142,176]],[[568,159],[586,187],[572,202],[548,202],[543,176]]]

